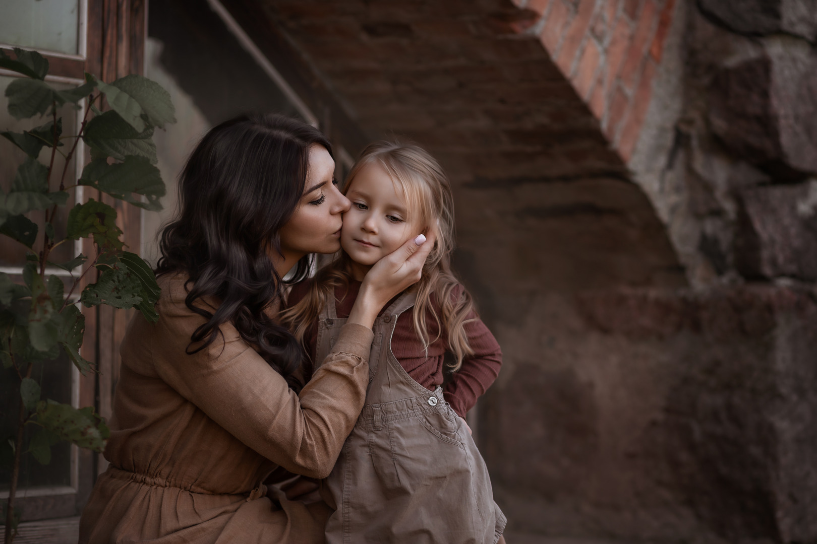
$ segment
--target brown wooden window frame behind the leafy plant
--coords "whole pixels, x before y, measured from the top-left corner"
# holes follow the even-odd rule
[[[79,37],[78,54],[69,55],[56,51],[38,51],[49,62],[48,82],[84,82],[85,73],[92,73],[102,81],[112,82],[129,73],[144,72],[145,38],[147,29],[147,0],[80,0],[81,13],[78,14]],[[83,32],[84,31],[84,32]],[[11,49],[14,44],[0,44],[3,49]],[[3,75],[19,76],[0,70]],[[81,103],[78,123],[82,121],[86,101]],[[77,177],[88,160],[87,149],[78,144],[75,154]],[[125,244],[135,253],[141,251],[141,210],[136,206],[104,195],[91,188],[76,188],[74,201],[83,202],[88,198],[105,201],[117,210],[117,223],[123,229]],[[95,253],[92,241],[78,241],[74,254]],[[9,268],[7,270],[6,268]],[[16,267],[4,267],[2,272],[16,272]],[[19,273],[19,272],[17,272]],[[59,276],[67,275],[61,270],[49,271]],[[92,280],[93,281],[93,280]],[[77,293],[83,285],[78,285]],[[100,306],[81,308],[85,316],[85,336],[81,353],[87,360],[96,363],[98,374],[82,376],[73,370],[71,401],[75,406],[95,406],[109,418],[112,410],[114,387],[118,378],[118,347],[122,342],[127,321],[132,311],[116,310]],[[78,515],[81,513],[91,493],[96,475],[104,470],[107,463],[101,455],[87,449],[71,446],[71,475],[68,486],[51,488],[19,489],[16,504],[23,512],[24,522],[15,542],[62,542],[68,537],[76,542]],[[8,493],[0,493],[7,498]],[[51,529],[49,529],[51,528]],[[47,537],[47,540],[44,538]]]

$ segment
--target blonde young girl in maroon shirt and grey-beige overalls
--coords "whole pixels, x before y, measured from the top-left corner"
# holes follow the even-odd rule
[[[425,229],[436,242],[422,279],[375,321],[366,403],[321,489],[335,509],[327,542],[494,544],[506,519],[463,418],[502,353],[451,272],[449,181],[422,148],[382,142],[364,150],[345,194],[340,255],[293,288],[283,313],[312,361],[330,352],[378,259]],[[443,389],[446,352],[454,373]]]

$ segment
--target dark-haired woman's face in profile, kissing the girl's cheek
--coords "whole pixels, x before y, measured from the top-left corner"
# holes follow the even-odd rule
[[[350,203],[337,190],[334,174],[335,161],[326,148],[312,145],[305,192],[292,218],[279,230],[281,251],[289,268],[306,254],[340,249],[342,214]]]

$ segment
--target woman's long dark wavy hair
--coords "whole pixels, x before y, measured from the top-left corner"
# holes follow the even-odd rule
[[[163,228],[156,267],[157,274],[189,276],[185,304],[208,320],[190,336],[189,354],[230,322],[296,389],[303,349],[265,310],[282,294],[269,255],[280,253],[279,230],[303,195],[312,144],[332,153],[315,127],[281,115],[242,115],[212,128],[182,170],[180,211]],[[308,271],[305,257],[290,281]],[[209,312],[197,299],[215,300],[218,309]]]

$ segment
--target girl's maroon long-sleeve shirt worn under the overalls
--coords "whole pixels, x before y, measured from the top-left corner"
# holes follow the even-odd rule
[[[293,306],[306,296],[308,291],[308,281],[301,282],[292,287],[287,305]],[[458,285],[454,288],[452,296],[459,298],[464,288]],[[338,317],[348,317],[352,305],[357,299],[360,290],[360,282],[352,281],[348,286],[337,287],[335,290],[335,305]],[[391,304],[391,303],[389,303]],[[389,306],[386,304],[386,307]],[[435,297],[431,297],[431,307],[440,316],[440,305]],[[385,308],[384,308],[385,309]],[[382,312],[381,312],[382,313]],[[449,382],[444,387],[444,397],[451,407],[461,417],[465,417],[468,410],[474,407],[479,398],[493,383],[499,374],[502,366],[502,350],[496,338],[480,320],[475,312],[471,312],[468,319],[473,319],[465,325],[468,343],[474,351],[472,356],[467,356],[462,360],[462,366],[451,376]],[[426,311],[426,329],[428,338],[431,340],[437,336],[437,321],[431,314],[431,308]],[[311,360],[315,360],[315,343],[317,342],[318,320],[310,325],[306,331],[306,346],[309,348]],[[400,365],[409,376],[422,387],[434,391],[436,387],[443,384],[444,375],[444,355],[447,351],[448,336],[445,330],[428,346],[428,353],[422,347],[419,335],[414,330],[413,309],[400,314],[400,318],[395,325],[395,332],[391,337],[391,352],[400,361]]]

